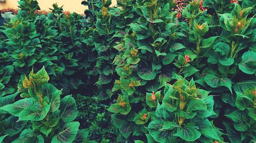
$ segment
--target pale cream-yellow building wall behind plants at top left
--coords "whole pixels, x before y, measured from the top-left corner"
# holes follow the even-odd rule
[[[6,0],[6,2],[0,2],[0,9],[17,8],[18,0]],[[58,3],[58,6],[63,5],[64,11],[76,12],[82,14],[87,7],[81,5],[82,0],[37,0],[41,10],[49,10],[52,8],[52,4]],[[112,0],[112,6],[116,5],[116,0]]]

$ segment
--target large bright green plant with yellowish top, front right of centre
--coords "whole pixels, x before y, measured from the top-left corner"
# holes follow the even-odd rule
[[[213,96],[208,94],[197,89],[193,79],[179,78],[173,85],[166,83],[162,104],[156,108],[156,118],[147,127],[148,140],[221,141],[223,133],[207,119],[212,115],[214,106]]]

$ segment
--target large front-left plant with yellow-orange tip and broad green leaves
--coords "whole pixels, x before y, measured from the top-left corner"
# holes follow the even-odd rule
[[[32,70],[29,79],[25,76],[18,83],[20,97],[24,99],[12,104],[4,102],[6,105],[0,108],[12,116],[18,117],[17,122],[30,122],[32,125],[24,129],[19,138],[13,142],[22,140],[26,140],[25,142],[32,140],[36,140],[36,142],[87,140],[87,138],[83,138],[84,136],[76,138],[83,134],[83,130],[78,131],[80,124],[73,121],[77,116],[75,99],[71,95],[60,99],[61,91],[47,83],[49,79],[44,67],[37,73]],[[16,95],[8,96],[8,98],[13,99]]]

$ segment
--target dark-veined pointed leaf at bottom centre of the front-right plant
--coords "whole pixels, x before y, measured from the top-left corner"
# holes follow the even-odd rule
[[[174,136],[179,136],[186,141],[195,141],[201,136],[201,133],[191,126],[180,127]]]

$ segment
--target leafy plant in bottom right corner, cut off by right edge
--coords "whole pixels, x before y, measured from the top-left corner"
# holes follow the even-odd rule
[[[227,115],[233,124],[224,122],[228,138],[232,142],[255,141],[255,89],[246,89],[245,92],[237,92],[234,109]]]

